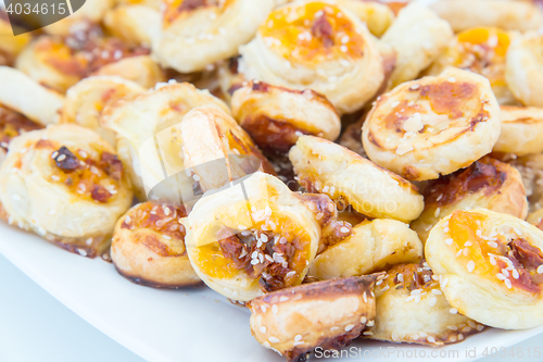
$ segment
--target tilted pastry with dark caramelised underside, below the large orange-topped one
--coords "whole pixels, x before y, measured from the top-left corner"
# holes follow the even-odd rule
[[[341,120],[319,93],[275,87],[258,80],[233,93],[232,114],[263,150],[287,153],[301,135],[338,138]]]

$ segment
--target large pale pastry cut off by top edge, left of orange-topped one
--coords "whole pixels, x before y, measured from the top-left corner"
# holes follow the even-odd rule
[[[236,55],[274,7],[274,0],[168,0],[153,54],[181,73],[203,71]]]

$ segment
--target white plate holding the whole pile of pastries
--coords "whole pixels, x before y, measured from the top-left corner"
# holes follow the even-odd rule
[[[84,320],[149,361],[285,361],[251,336],[247,310],[206,287],[141,287],[101,259],[68,253],[3,223],[0,252]],[[389,351],[394,361],[413,361],[414,353],[417,360],[432,361],[432,352],[443,353],[449,361],[472,361],[483,357],[485,348],[496,351],[539,333],[543,327],[490,329],[440,349],[357,340],[352,345],[356,350],[350,351],[358,353],[359,348],[361,357],[366,351],[365,361],[382,361],[381,351]]]

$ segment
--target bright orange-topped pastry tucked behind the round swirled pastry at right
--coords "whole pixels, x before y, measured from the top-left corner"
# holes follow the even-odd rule
[[[505,55],[514,35],[496,27],[476,27],[456,36],[429,70],[438,75],[447,66],[480,74],[490,80],[501,104],[513,104],[515,98],[505,82]]]

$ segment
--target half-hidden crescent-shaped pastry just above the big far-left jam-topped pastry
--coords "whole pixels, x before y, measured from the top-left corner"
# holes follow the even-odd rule
[[[92,76],[78,82],[66,91],[60,123],[76,123],[97,132],[115,145],[115,133],[100,126],[103,109],[117,99],[144,92],[137,83],[117,76]]]

